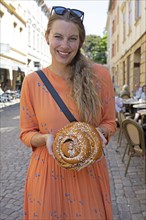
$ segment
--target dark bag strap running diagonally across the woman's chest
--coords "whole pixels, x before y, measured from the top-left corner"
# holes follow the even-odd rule
[[[53,99],[58,104],[58,106],[61,108],[61,110],[63,111],[63,113],[67,117],[67,119],[70,122],[77,121],[75,119],[75,117],[73,116],[73,114],[69,111],[69,109],[67,108],[67,106],[65,105],[65,103],[63,102],[61,97],[59,96],[59,94],[56,92],[56,90],[54,89],[54,87],[50,83],[49,79],[45,76],[45,74],[41,70],[37,70],[36,73],[39,75],[39,77],[43,81],[44,85],[46,86],[46,88],[48,89],[48,91],[52,95]]]

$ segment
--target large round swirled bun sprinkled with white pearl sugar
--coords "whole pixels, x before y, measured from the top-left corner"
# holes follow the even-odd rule
[[[101,157],[102,140],[92,125],[72,122],[56,134],[53,154],[61,167],[79,171]]]

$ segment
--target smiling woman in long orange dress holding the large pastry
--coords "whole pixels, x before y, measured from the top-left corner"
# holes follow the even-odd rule
[[[74,117],[98,128],[109,140],[115,132],[115,102],[108,70],[80,52],[85,40],[84,13],[53,7],[46,41],[52,63],[42,71]],[[20,138],[32,147],[24,219],[112,219],[105,156],[81,171],[61,168],[48,153],[54,135],[69,121],[37,73],[24,79],[20,103]],[[48,149],[49,148],[49,149]]]

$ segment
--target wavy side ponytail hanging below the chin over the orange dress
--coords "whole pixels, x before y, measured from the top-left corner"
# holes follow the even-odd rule
[[[81,121],[88,123],[97,122],[101,109],[95,88],[97,77],[91,68],[91,64],[79,51],[70,69],[72,97],[78,106]]]

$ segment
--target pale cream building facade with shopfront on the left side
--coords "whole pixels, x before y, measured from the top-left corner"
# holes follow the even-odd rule
[[[45,41],[49,9],[43,0],[0,0],[0,83],[20,90],[26,74],[50,63]]]

